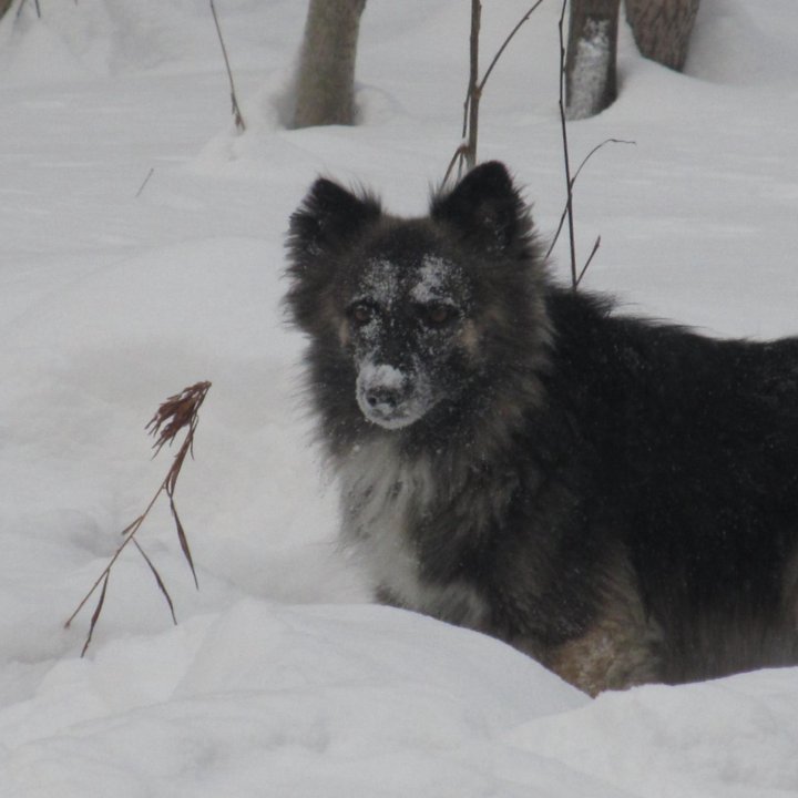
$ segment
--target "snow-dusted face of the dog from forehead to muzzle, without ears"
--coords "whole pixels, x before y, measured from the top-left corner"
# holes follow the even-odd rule
[[[357,370],[358,406],[387,429],[413,423],[458,392],[468,357],[468,280],[456,262],[419,250],[420,231],[408,233],[370,243],[340,293],[339,337]]]

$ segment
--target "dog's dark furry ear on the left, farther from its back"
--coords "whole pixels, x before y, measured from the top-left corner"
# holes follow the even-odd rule
[[[381,214],[374,197],[356,196],[319,177],[290,217],[288,248],[295,258],[320,254],[345,244]]]

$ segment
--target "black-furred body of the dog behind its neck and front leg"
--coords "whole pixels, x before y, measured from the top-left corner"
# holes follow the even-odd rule
[[[710,339],[571,291],[549,307],[550,401],[579,419],[589,528],[628,553],[661,678],[798,662],[798,340]]]

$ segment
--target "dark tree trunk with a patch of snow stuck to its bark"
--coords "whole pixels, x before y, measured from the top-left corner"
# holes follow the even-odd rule
[[[603,111],[617,96],[615,53],[621,0],[571,0],[565,110],[569,119]]]

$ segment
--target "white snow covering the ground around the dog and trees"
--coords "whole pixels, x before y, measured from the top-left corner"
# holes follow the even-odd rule
[[[798,669],[590,700],[370,605],[336,544],[279,305],[287,218],[319,173],[423,211],[459,143],[463,4],[369,3],[364,124],[286,132],[305,3],[217,0],[243,135],[207,3],[40,4],[0,22],[0,795],[796,795]],[[485,7],[483,63],[528,4]],[[510,164],[544,237],[557,17],[533,14],[481,104],[480,157]],[[796,331],[797,22],[794,0],[704,0],[686,74],[623,31],[618,101],[569,132],[573,163],[636,143],[576,184],[582,257],[602,236],[585,287],[713,334]],[[203,379],[176,492],[201,589],[157,505],[140,540],[180,624],[125,552],[81,659],[91,608],[63,622],[168,468],[144,424]]]

